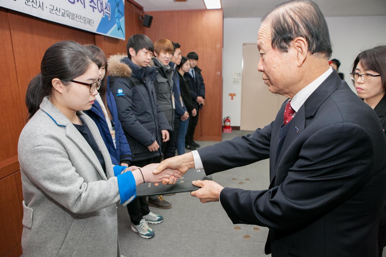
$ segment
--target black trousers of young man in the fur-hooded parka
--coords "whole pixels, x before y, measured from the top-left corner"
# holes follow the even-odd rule
[[[134,161],[131,163],[132,166],[143,167],[147,164],[154,163],[154,158]],[[131,223],[134,225],[139,225],[139,221],[142,220],[142,216],[149,214],[149,205],[147,204],[146,197],[136,197],[131,201],[127,206],[127,211],[129,212]]]

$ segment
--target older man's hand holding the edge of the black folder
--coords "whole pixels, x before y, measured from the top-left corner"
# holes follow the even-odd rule
[[[200,199],[201,203],[218,202],[220,192],[224,188],[211,180],[196,180],[192,181],[192,184],[199,186],[200,189],[191,192],[190,195]]]

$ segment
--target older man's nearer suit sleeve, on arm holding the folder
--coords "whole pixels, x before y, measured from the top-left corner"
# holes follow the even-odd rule
[[[340,205],[366,184],[373,165],[372,144],[359,125],[330,125],[306,140],[295,163],[278,167],[278,172],[281,168],[288,171],[279,186],[262,191],[224,188],[220,202],[233,223],[299,227]]]

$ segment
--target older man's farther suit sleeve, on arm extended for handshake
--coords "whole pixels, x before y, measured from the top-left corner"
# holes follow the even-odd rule
[[[198,150],[207,175],[269,158],[273,122],[253,134]]]

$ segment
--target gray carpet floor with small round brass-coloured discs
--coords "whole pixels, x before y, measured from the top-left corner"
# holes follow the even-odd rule
[[[249,133],[251,132],[236,130],[232,134],[223,133],[222,139],[229,140]],[[205,147],[217,142],[197,143]],[[224,187],[266,189],[269,185],[269,163],[265,160],[216,173],[213,174],[213,180]],[[201,203],[198,198],[190,196],[190,193],[164,196],[164,199],[172,203],[173,207],[168,210],[150,207],[152,212],[164,217],[160,224],[149,224],[156,234],[151,239],[141,238],[132,232],[127,208],[118,207],[121,254],[127,257],[271,256],[264,254],[267,228],[234,225],[220,203]]]

